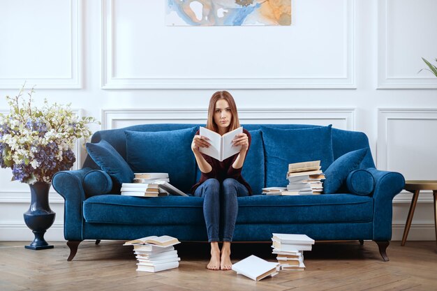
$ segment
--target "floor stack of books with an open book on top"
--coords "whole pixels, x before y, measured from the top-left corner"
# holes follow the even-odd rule
[[[157,272],[179,267],[181,259],[174,247],[179,243],[177,238],[163,235],[126,241],[124,246],[133,246],[138,260],[137,271]]]

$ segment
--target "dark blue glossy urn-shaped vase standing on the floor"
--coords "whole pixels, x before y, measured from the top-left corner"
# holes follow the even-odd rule
[[[44,239],[45,231],[52,226],[56,215],[49,206],[49,190],[52,184],[36,182],[29,184],[31,193],[31,204],[29,210],[24,212],[24,222],[35,234],[34,241],[29,246],[24,246],[31,250],[44,250],[53,248]]]

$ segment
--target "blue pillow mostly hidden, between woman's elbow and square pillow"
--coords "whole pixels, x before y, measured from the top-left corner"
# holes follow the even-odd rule
[[[249,183],[254,195],[261,194],[264,188],[264,149],[262,147],[261,130],[251,130],[251,147],[244,160],[242,177]]]

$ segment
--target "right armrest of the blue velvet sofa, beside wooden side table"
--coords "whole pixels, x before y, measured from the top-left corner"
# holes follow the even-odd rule
[[[405,179],[398,172],[380,171],[375,168],[366,169],[375,179],[373,189],[373,240],[388,241],[392,239],[393,198],[399,194]]]

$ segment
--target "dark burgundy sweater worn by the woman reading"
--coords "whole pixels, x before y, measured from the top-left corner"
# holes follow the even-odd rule
[[[247,137],[249,137],[249,147],[247,148],[246,151],[246,157],[247,157],[247,153],[249,153],[249,149],[251,147],[252,137],[249,131],[245,130],[244,128],[243,128],[243,133],[246,133]],[[198,135],[199,130],[195,134]],[[218,181],[222,182],[226,178],[232,178],[243,184],[249,191],[249,195],[252,195],[251,186],[242,177],[243,167],[240,167],[239,169],[234,169],[234,167],[232,167],[232,164],[235,162],[238,155],[239,154],[235,154],[234,156],[230,156],[229,158],[226,158],[225,160],[223,160],[223,162],[220,162],[215,158],[202,154],[203,158],[205,158],[205,160],[209,163],[209,165],[211,165],[212,170],[211,172],[206,174],[202,172],[202,175],[200,176],[198,183],[196,183],[193,187],[191,187],[191,193],[194,193],[195,189],[197,189],[198,186],[200,186],[203,182],[207,181],[207,179],[215,178]]]

